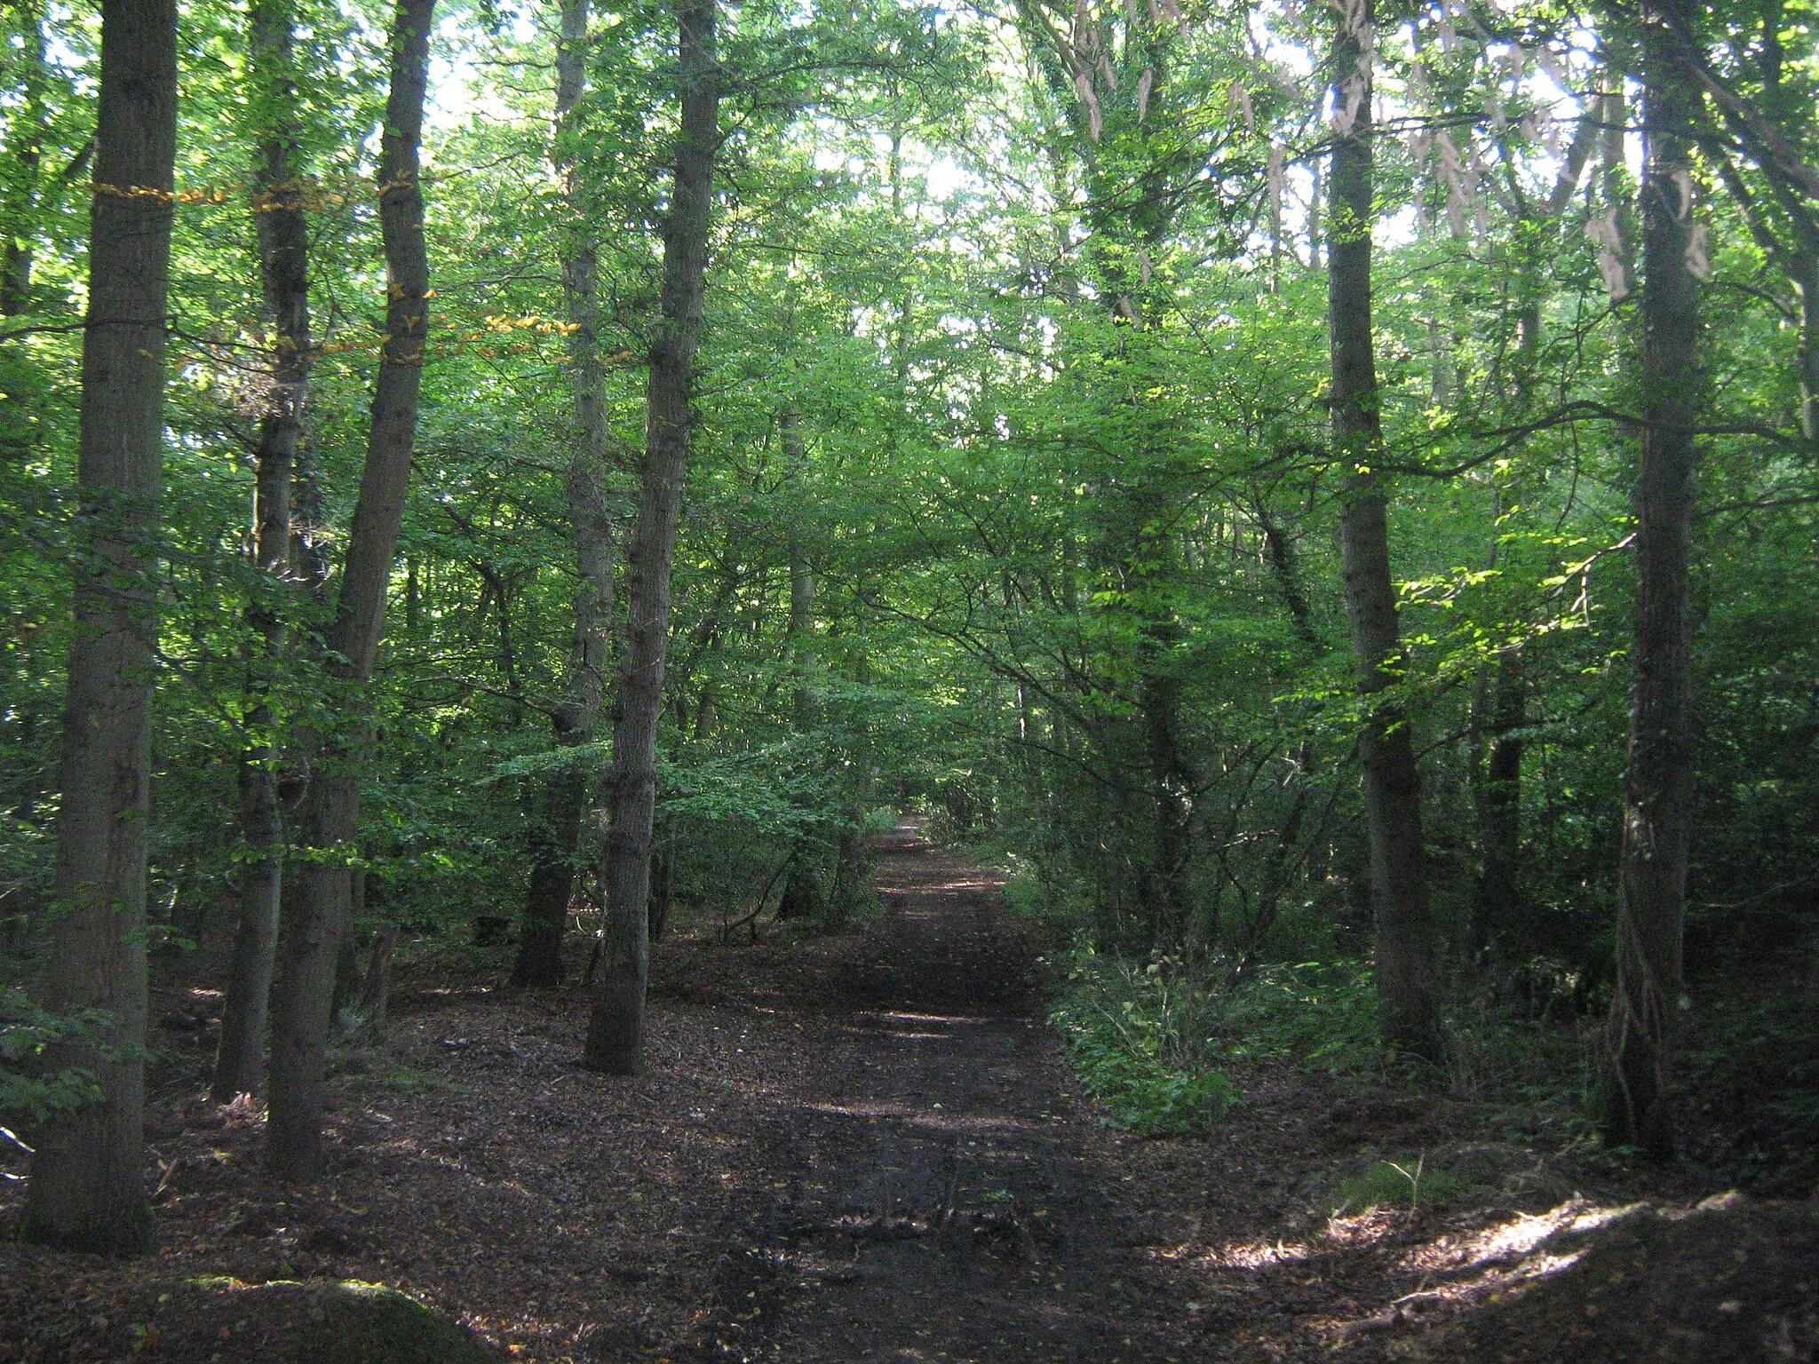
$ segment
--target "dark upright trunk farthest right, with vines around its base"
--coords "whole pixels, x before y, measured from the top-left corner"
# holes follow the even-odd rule
[[[1601,1124],[1612,1142],[1673,1149],[1666,1078],[1681,998],[1681,924],[1692,829],[1693,420],[1699,407],[1699,291],[1686,267],[1692,144],[1699,93],[1673,60],[1668,25],[1690,31],[1684,0],[1644,11],[1643,451],[1635,482],[1635,682],[1617,880],[1617,989]]]

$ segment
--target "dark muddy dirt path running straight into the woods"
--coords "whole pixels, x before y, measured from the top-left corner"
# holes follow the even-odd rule
[[[779,998],[820,1015],[824,1051],[773,1095],[786,1188],[728,1226],[708,1357],[1179,1357],[1182,1308],[1130,1255],[999,884],[906,822],[879,888],[884,917]]]

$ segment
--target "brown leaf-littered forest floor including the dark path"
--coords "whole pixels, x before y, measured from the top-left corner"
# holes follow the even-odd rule
[[[218,1002],[171,995],[162,1253],[0,1246],[0,1360],[278,1359],[282,1313],[236,1293],[280,1279],[391,1284],[551,1362],[1630,1359],[1572,1346],[1577,1299],[1490,1353],[1424,1340],[1570,1262],[1550,1235],[1699,1189],[1488,1140],[1482,1106],[1273,1066],[1210,1135],[1119,1135],[995,877],[913,824],[877,873],[859,931],[666,944],[635,1080],[575,1066],[584,998],[404,995],[386,1053],[335,1078],[331,1168],[300,1189],[262,1180],[255,1109],[196,1100]],[[1381,1158],[1444,1164],[1450,1200],[1335,1215],[1333,1173]],[[20,1188],[0,1182],[7,1222]],[[1683,1297],[1744,1346],[1710,1359],[1812,1357],[1750,1353],[1754,1300]]]

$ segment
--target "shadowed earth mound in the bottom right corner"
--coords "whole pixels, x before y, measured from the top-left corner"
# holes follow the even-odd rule
[[[1635,1206],[1543,1240],[1482,1308],[1397,1351],[1482,1364],[1819,1359],[1819,1204]]]

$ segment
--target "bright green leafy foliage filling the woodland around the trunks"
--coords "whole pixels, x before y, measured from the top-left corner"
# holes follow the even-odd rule
[[[824,928],[866,904],[862,833],[880,807],[919,806],[931,837],[1002,849],[1019,908],[1097,953],[1059,1015],[1070,1048],[1119,1097],[1110,1108],[1164,1128],[1228,1102],[1224,1064],[1384,1068],[1359,966],[1373,924],[1362,704],[1332,535],[1342,469],[1311,211],[1330,138],[1310,111],[1326,95],[1301,75],[1330,75],[1326,29],[1242,7],[1162,24],[1170,9],[739,7],[657,829],[678,902],[737,918],[766,909],[780,871],[806,869]],[[1810,4],[1795,11],[1774,60],[1754,11],[1704,13],[1697,36],[1810,149],[1819,64]],[[386,295],[369,158],[387,7],[296,13],[322,342],[309,478],[338,553]],[[495,960],[451,944],[471,917],[517,911],[540,795],[578,773],[597,804],[609,762],[604,717],[578,744],[558,744],[548,717],[571,684],[577,600],[562,262],[591,235],[604,500],[622,529],[675,133],[662,5],[595,7],[589,89],[555,135],[553,25],[504,20],[455,5],[438,22],[437,298],[347,849],[369,917],[402,922],[407,951],[475,971]],[[1386,27],[1375,60],[1393,127],[1373,153],[1395,224],[1373,247],[1382,453],[1408,471],[1388,486],[1408,646],[1390,698],[1421,753],[1433,920],[1453,964],[1448,1080],[1488,1098],[1570,1091],[1590,1022],[1523,1017],[1459,966],[1482,946],[1484,697],[1517,658],[1519,898],[1495,948],[1592,982],[1615,909],[1643,396],[1637,295],[1606,295],[1586,235],[1633,216],[1628,156],[1590,164],[1539,211],[1561,169],[1550,138],[1570,135],[1628,38],[1608,15],[1532,0],[1506,20],[1521,47],[1428,11]],[[269,320],[242,186],[269,95],[247,89],[244,5],[186,5],[182,33],[151,937],[195,940],[200,969],[220,957],[246,868],[242,755],[287,751],[337,697],[320,667],[333,593],[264,582],[246,555]],[[33,264],[0,322],[11,980],[53,862],[96,16],[0,7],[0,220]],[[1075,69],[1084,51],[1100,60]],[[1537,76],[1543,51],[1564,84]],[[1774,246],[1803,238],[1764,169],[1728,136],[1708,142],[1752,193],[1701,169],[1723,326],[1703,335],[1688,964],[1697,1008],[1713,1000],[1726,1020],[1701,1042],[1699,1075],[1721,1091],[1726,1075],[1761,1077],[1752,1093],[1768,1098],[1734,1108],[1761,1129],[1748,1149],[1770,1153],[1750,1158],[1772,1164],[1774,1131],[1810,1131],[1819,1077],[1786,1060],[1810,1028],[1792,995],[1739,1013],[1724,944],[1750,935],[1784,955],[1814,922],[1819,500],[1794,435],[1801,327],[1784,269],[1804,255]],[[553,162],[573,164],[573,198]],[[819,595],[793,626],[802,569]],[[251,607],[284,618],[289,657],[258,660]],[[615,642],[624,626],[620,604]],[[255,726],[260,700],[269,720]],[[582,906],[598,858],[589,820]],[[1583,995],[1570,1008],[1595,1009],[1595,989]],[[51,1024],[18,1026],[31,1038]]]

